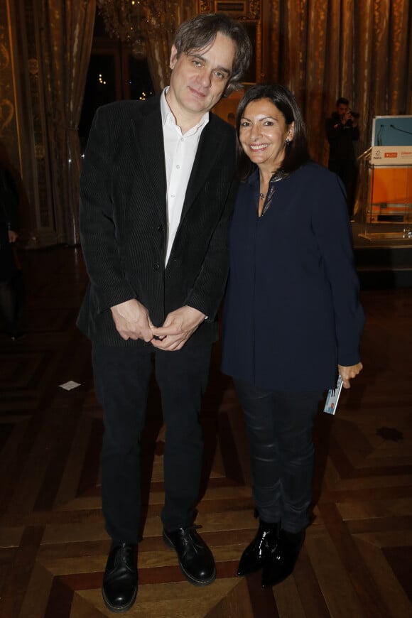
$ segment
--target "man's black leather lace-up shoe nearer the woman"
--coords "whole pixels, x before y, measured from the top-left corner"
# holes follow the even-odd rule
[[[178,554],[179,566],[185,578],[195,586],[207,586],[215,581],[216,567],[212,552],[196,532],[197,526],[163,530],[163,541]]]

